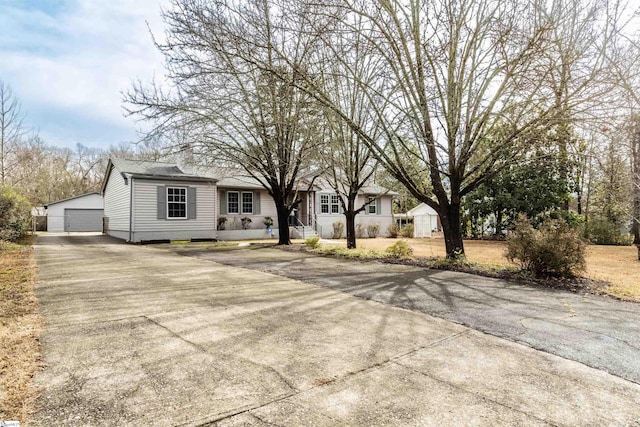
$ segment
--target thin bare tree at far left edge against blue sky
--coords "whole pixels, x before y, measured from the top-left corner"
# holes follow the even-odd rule
[[[8,84],[0,79],[0,183],[7,180],[9,154],[26,134],[20,101]]]

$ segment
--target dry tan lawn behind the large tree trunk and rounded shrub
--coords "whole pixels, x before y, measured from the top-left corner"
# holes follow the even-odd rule
[[[403,239],[419,257],[444,257],[442,239]],[[397,239],[359,239],[358,247],[384,250]],[[489,265],[510,265],[504,257],[504,242],[467,240],[464,242],[471,262]],[[597,246],[587,248],[586,277],[605,280],[611,285],[604,292],[625,300],[640,302],[640,261],[634,246]]]

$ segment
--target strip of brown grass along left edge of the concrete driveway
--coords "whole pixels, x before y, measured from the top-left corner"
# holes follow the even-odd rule
[[[35,407],[30,382],[41,363],[32,243],[0,243],[0,420],[22,424]]]

